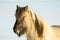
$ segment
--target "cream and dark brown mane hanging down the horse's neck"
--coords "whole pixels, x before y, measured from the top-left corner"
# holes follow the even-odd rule
[[[31,17],[33,19],[32,21],[34,22],[34,25],[35,25],[35,30],[37,30],[38,36],[40,37],[43,34],[43,23],[42,22],[39,23],[39,18],[31,10],[30,10],[30,13],[31,13]]]

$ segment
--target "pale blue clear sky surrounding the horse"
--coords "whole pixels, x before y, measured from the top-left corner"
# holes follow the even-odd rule
[[[60,0],[0,0],[0,40],[26,40],[13,32],[16,5],[25,6],[51,25],[60,25]]]

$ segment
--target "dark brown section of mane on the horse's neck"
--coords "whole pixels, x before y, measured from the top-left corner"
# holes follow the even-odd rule
[[[35,29],[37,30],[38,36],[41,36],[42,32],[43,32],[43,24],[39,23],[39,20],[35,14]]]

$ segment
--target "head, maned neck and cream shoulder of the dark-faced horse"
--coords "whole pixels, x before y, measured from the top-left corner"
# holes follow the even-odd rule
[[[25,34],[27,40],[58,40],[53,29],[42,17],[32,12],[28,5],[17,5],[15,17],[13,31],[19,37]]]

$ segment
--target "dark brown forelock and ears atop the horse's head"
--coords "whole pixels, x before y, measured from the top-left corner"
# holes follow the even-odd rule
[[[15,16],[19,18],[22,14],[24,14],[24,12],[27,12],[28,9],[28,5],[26,5],[25,7],[19,7],[17,5]]]

